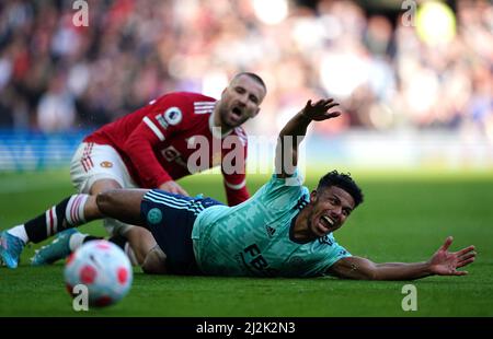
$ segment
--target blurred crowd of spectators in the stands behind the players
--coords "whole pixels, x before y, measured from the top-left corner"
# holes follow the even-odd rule
[[[346,114],[320,133],[447,128],[493,140],[488,1],[379,12],[333,0],[89,0],[87,26],[74,2],[0,2],[0,127],[95,128],[165,92],[219,97],[232,74],[253,71],[268,93],[250,132],[275,133],[308,98],[331,95]]]

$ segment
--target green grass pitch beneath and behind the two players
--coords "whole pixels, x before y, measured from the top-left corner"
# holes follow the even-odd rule
[[[307,177],[311,188],[320,173]],[[64,288],[62,264],[32,268],[25,249],[16,270],[0,268],[0,316],[493,316],[493,174],[354,172],[366,201],[335,236],[351,253],[376,261],[426,260],[447,235],[470,244],[478,260],[466,277],[429,277],[417,288],[417,311],[403,312],[410,282],[146,276],[135,270],[117,305],[76,313]],[[265,176],[249,177],[253,192]],[[73,190],[68,171],[0,174],[0,229],[23,222]],[[223,200],[219,175],[181,182],[192,195]],[[104,234],[100,222],[83,230]]]

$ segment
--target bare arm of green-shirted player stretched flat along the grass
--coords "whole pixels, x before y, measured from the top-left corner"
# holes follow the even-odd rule
[[[335,262],[329,270],[333,276],[343,279],[357,280],[414,280],[428,276],[465,276],[467,271],[459,271],[475,259],[474,246],[449,252],[452,243],[449,236],[445,244],[424,262],[386,262],[376,264],[360,257],[347,257]]]

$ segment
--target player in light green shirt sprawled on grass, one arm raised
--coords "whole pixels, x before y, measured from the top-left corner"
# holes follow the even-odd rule
[[[252,198],[227,207],[210,198],[188,198],[160,190],[123,189],[98,195],[100,210],[152,233],[164,258],[161,273],[316,277],[412,280],[463,276],[474,247],[448,250],[452,238],[423,262],[376,264],[352,256],[333,237],[363,202],[356,183],[335,171],[313,191],[296,170],[298,143],[311,121],[337,117],[332,100],[308,102],[282,130],[276,173]],[[293,164],[295,166],[293,166]]]

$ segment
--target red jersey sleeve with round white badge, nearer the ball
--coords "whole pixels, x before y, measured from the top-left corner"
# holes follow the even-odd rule
[[[172,177],[161,166],[154,152],[167,139],[187,129],[192,120],[192,103],[177,94],[164,95],[150,102],[140,124],[124,145],[144,187],[156,188]]]

